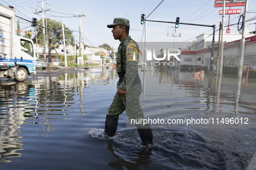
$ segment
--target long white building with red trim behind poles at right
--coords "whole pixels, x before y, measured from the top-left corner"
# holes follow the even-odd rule
[[[211,45],[212,35],[203,34],[197,37],[198,46],[196,51],[181,51],[180,59],[178,65],[199,65],[199,66],[208,66],[210,69],[211,62],[211,49],[207,48]],[[238,66],[240,58],[240,40],[241,34],[225,34],[224,40],[224,66]],[[218,40],[218,35],[215,35],[215,39]],[[201,41],[201,42],[200,42]],[[215,42],[216,43],[216,42]],[[217,43],[216,43],[217,44]],[[216,70],[217,64],[217,46],[214,48],[214,70]],[[200,58],[200,61],[198,61]],[[244,50],[244,61],[243,66],[250,66],[253,69],[256,69],[256,35],[247,34],[246,43]]]

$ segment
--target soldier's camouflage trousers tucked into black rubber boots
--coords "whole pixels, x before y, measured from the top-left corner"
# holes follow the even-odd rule
[[[120,87],[121,83],[117,82],[117,91]],[[126,87],[127,89],[127,87]],[[142,93],[142,86],[141,84],[131,85],[128,91],[126,91],[125,97],[119,97],[116,93],[112,104],[108,108],[108,115],[118,118],[120,114],[126,110],[126,115],[128,119],[134,120],[143,120],[144,115],[142,108],[139,103],[139,95]],[[139,121],[137,121],[139,122]],[[137,124],[140,126],[141,124]]]

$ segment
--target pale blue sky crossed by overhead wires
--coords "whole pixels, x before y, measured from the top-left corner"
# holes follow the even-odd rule
[[[83,34],[83,42],[88,46],[98,47],[104,43],[109,44],[115,49],[120,42],[113,39],[111,28],[107,28],[108,24],[113,23],[114,18],[126,18],[130,20],[130,35],[135,41],[145,40],[144,25],[140,24],[141,14],[149,14],[149,20],[175,22],[176,17],[179,17],[179,22],[216,25],[216,33],[222,15],[219,15],[219,10],[222,7],[214,7],[214,0],[44,0],[44,9],[46,4],[52,7],[52,11],[45,12],[45,17],[58,22],[64,22],[66,27],[73,30],[73,35],[79,41],[79,17],[74,15],[82,15],[81,27]],[[162,2],[162,3],[161,3]],[[161,3],[159,5],[159,3]],[[35,14],[32,8],[41,9],[42,2],[40,0],[0,0],[0,4],[4,6],[13,6],[16,11],[16,16],[22,17],[29,21],[32,17],[37,20],[42,18],[42,13]],[[255,19],[247,22],[246,28],[249,31],[254,31],[256,25],[256,1],[249,0],[247,19]],[[158,6],[159,5],[159,6]],[[158,6],[158,7],[157,7]],[[157,8],[156,8],[157,7]],[[155,9],[156,8],[156,9]],[[226,7],[229,9],[230,7]],[[155,9],[155,10],[154,10]],[[245,6],[233,6],[231,9],[242,9],[244,12]],[[154,11],[153,11],[154,10]],[[153,12],[152,12],[153,11]],[[241,13],[241,14],[242,14]],[[230,24],[236,24],[241,14],[230,15]],[[225,26],[228,25],[228,17],[225,16]],[[16,25],[17,28],[16,18]],[[26,31],[34,28],[31,23],[19,19],[20,30]],[[174,33],[175,24],[147,22],[147,41],[149,42],[173,42],[174,37],[168,37]],[[132,30],[133,29],[133,30]],[[239,33],[237,25],[230,26],[231,33]],[[225,32],[227,27],[225,28]],[[203,33],[213,33],[211,27],[201,27],[194,25],[179,25],[176,29],[176,42],[192,42],[196,40],[198,35]],[[21,34],[23,36],[23,34]],[[179,35],[181,35],[179,37]]]

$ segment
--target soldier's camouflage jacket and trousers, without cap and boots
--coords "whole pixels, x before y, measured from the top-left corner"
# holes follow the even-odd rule
[[[138,61],[139,54],[136,48],[139,45],[131,39],[126,37],[118,47],[117,53],[117,72],[121,72],[121,53],[123,53],[123,69],[125,72],[123,82],[117,82],[117,90],[122,88],[126,90],[125,97],[119,97],[115,94],[110,107],[108,108],[108,115],[118,118],[120,114],[126,110],[129,120],[144,119],[143,111],[139,103],[139,95],[142,93],[142,85],[138,75]],[[133,51],[135,51],[136,59],[133,60]]]

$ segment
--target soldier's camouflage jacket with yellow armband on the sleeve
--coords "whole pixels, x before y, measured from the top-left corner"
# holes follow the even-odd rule
[[[117,72],[121,72],[121,53],[123,53],[123,69],[125,72],[123,82],[120,85],[120,88],[126,90],[126,87],[130,87],[137,75],[138,72],[138,61],[139,54],[136,48],[139,48],[139,45],[133,40],[130,39],[131,36],[128,36],[123,39],[118,47],[117,52]],[[136,48],[135,48],[136,47]],[[123,51],[122,51],[123,48]],[[133,60],[133,51],[135,51],[135,60]]]

